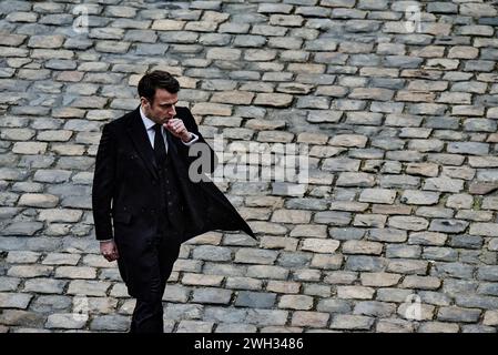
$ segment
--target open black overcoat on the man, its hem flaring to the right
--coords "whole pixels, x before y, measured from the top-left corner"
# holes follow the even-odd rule
[[[176,108],[177,118],[186,129],[204,141],[197,124],[186,108]],[[196,159],[189,156],[189,146],[171,135],[171,154],[183,204],[184,242],[213,231],[244,231],[254,233],[213,182],[194,183],[189,166]],[[209,148],[212,166],[216,154]],[[104,125],[100,141],[92,190],[93,219],[98,240],[114,237],[122,245],[150,243],[157,230],[161,195],[152,145],[143,125],[139,108]],[[112,219],[112,223],[111,223]]]

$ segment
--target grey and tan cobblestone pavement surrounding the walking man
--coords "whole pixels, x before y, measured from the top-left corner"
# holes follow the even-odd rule
[[[497,331],[496,1],[79,2],[0,2],[0,332],[128,329],[92,171],[154,68],[206,138],[311,168],[220,183],[261,241],[183,245],[166,332]]]

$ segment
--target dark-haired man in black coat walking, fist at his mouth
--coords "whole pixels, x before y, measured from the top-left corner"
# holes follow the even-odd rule
[[[103,126],[93,219],[102,255],[118,261],[136,298],[130,332],[162,333],[162,296],[181,243],[213,230],[254,234],[205,176],[216,154],[189,109],[176,106],[177,80],[153,71],[138,89],[140,105]]]

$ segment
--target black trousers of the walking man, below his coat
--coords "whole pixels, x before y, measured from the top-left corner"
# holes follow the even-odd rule
[[[136,297],[130,333],[163,333],[163,303],[162,297],[173,264],[179,257],[180,241],[175,232],[170,230],[160,233],[151,243],[144,257],[150,257],[152,272],[144,281],[146,290],[142,290]]]

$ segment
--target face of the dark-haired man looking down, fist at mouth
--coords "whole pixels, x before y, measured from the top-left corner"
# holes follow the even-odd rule
[[[155,90],[153,103],[148,99],[141,98],[142,109],[145,115],[155,123],[166,123],[176,115],[175,104],[179,102],[177,93],[170,93],[167,90]]]

